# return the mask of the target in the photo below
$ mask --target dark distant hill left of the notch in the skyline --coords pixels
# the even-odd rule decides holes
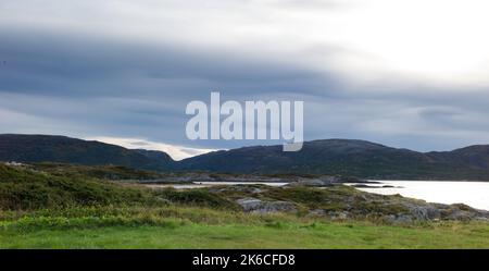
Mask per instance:
[[[162,151],[131,150],[100,141],[51,135],[0,135],[0,161],[114,164],[170,170],[173,159]]]

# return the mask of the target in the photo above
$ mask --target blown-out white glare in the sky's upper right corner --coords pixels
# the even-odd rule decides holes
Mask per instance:
[[[372,0],[338,15],[339,65],[444,86],[489,84],[489,1]]]

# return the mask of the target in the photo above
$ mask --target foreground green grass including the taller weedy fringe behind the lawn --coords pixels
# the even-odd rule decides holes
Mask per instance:
[[[1,224],[0,247],[489,248],[489,224],[477,222],[394,226],[186,207],[158,208],[145,215],[138,214],[140,209],[100,211],[7,218]]]

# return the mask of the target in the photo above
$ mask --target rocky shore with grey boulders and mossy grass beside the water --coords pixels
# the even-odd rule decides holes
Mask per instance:
[[[308,182],[306,185],[310,183]],[[233,185],[209,188],[209,192],[236,202],[244,212],[294,212],[331,220],[373,219],[388,223],[427,221],[489,221],[489,212],[465,205],[442,205],[360,192],[342,184],[305,187]]]

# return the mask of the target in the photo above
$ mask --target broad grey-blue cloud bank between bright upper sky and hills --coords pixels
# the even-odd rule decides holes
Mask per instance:
[[[316,1],[314,1],[316,2]],[[288,1],[287,7],[298,5]],[[277,141],[190,141],[185,106],[223,99],[299,99],[305,139],[362,138],[419,150],[489,143],[488,89],[379,82],[355,85],[289,59],[176,42],[116,39],[65,30],[0,28],[0,132],[116,136],[191,147]],[[280,45],[276,45],[279,47]],[[304,58],[346,50],[311,45]],[[296,56],[297,57],[297,56]],[[456,90],[456,91],[455,91]],[[196,150],[184,149],[188,153]]]

